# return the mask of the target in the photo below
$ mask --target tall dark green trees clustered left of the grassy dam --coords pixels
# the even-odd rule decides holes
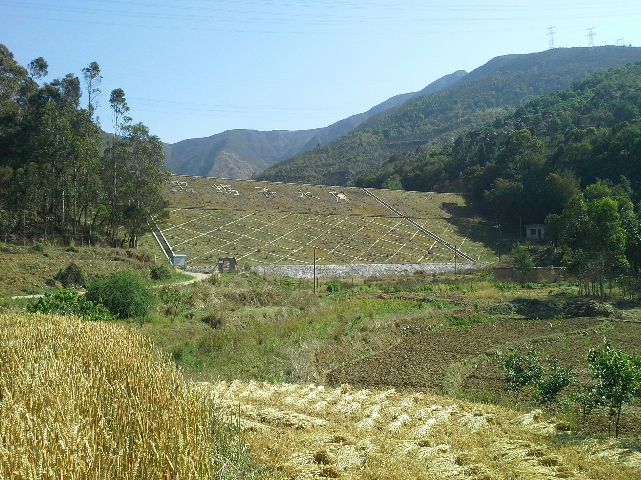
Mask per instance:
[[[96,62],[82,78],[39,83],[48,70],[42,57],[19,65],[0,44],[0,237],[135,248],[147,216],[167,207],[162,143],[132,123],[121,89],[109,96],[113,134],[101,130]]]

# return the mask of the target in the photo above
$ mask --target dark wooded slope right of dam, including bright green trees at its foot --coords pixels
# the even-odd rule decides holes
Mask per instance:
[[[528,102],[440,150],[398,154],[356,184],[459,184],[504,232],[545,221],[557,259],[604,296],[604,279],[641,268],[641,62]],[[638,208],[637,208],[638,210]],[[519,235],[520,236],[520,235]]]

